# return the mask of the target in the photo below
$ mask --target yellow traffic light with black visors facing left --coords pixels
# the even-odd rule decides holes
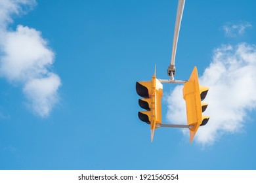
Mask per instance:
[[[150,125],[151,141],[153,141],[154,131],[158,128],[157,124],[161,124],[163,85],[155,74],[152,76],[152,81],[136,82],[136,91],[142,97],[139,99],[140,107],[146,109],[146,111],[138,112],[138,116],[142,122]]]

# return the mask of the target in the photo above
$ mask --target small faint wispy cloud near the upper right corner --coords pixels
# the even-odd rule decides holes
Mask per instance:
[[[236,37],[238,35],[244,35],[245,29],[249,27],[251,27],[251,24],[248,22],[240,22],[240,24],[226,24],[221,29],[227,37]]]

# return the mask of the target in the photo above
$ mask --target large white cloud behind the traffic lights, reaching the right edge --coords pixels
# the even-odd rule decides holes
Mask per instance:
[[[255,71],[254,44],[223,45],[215,49],[211,64],[200,76],[200,85],[210,88],[203,101],[209,104],[203,114],[210,116],[210,120],[198,129],[194,141],[211,145],[223,134],[243,130],[249,120],[248,112],[256,108]],[[182,87],[175,87],[167,97],[167,119],[177,124],[186,124]],[[188,130],[183,133],[188,135]]]

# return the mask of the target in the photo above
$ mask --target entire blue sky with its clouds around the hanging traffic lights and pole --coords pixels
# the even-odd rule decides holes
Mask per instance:
[[[0,3],[0,169],[256,169],[255,1],[187,0],[175,59],[210,88],[188,130],[137,116],[135,83],[169,79],[178,0]],[[162,121],[186,124],[182,86]]]

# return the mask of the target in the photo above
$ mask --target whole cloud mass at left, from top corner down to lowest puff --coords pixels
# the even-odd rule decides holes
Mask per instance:
[[[60,77],[51,72],[54,52],[47,46],[41,32],[18,25],[7,29],[12,14],[22,14],[25,5],[35,1],[4,0],[0,3],[0,76],[11,83],[18,83],[28,99],[28,105],[39,116],[48,116],[58,101]]]

